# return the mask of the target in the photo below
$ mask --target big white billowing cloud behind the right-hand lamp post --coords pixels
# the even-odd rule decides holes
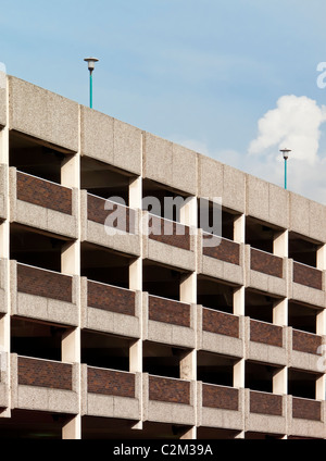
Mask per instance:
[[[326,107],[318,107],[304,96],[288,95],[279,98],[276,109],[258,122],[258,137],[247,152],[212,151],[204,142],[191,139],[180,144],[280,187],[284,186],[284,160],[279,149],[287,147],[292,150],[288,161],[288,189],[326,204],[326,158],[319,151],[325,122]]]

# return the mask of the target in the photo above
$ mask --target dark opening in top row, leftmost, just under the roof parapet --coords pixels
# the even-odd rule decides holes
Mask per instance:
[[[9,165],[20,172],[61,184],[61,169],[71,155],[40,140],[10,132]]]

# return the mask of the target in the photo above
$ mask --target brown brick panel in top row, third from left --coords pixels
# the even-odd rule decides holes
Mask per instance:
[[[190,229],[173,221],[149,216],[149,238],[161,244],[190,251]]]

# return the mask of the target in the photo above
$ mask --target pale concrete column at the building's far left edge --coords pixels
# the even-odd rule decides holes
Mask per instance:
[[[7,303],[7,313],[0,317],[0,353],[1,367],[5,367],[7,382],[8,382],[8,409],[1,413],[2,418],[11,416],[11,367],[10,367],[10,352],[11,352],[11,298],[10,298],[10,185],[9,185],[9,88],[7,75],[1,75],[1,85],[3,84],[5,94],[5,110],[7,121],[5,127],[0,130],[0,163],[4,165],[4,210],[7,212],[5,221],[0,225],[0,258],[7,263],[3,265],[5,274],[4,279],[4,296]],[[2,88],[3,89],[3,88]]]

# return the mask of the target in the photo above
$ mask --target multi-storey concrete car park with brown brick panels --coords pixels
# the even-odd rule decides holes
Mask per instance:
[[[5,80],[0,437],[326,438],[325,205]],[[172,235],[145,197],[188,199]]]

